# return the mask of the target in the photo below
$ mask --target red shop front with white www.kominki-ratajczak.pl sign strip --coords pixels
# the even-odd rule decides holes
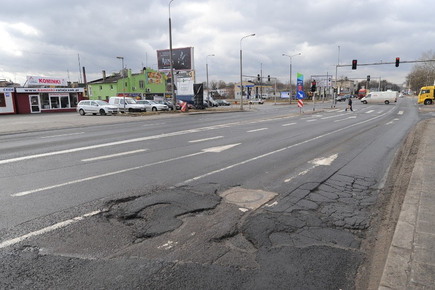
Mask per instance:
[[[76,111],[83,100],[84,88],[17,87],[16,105],[18,114],[54,113]]]

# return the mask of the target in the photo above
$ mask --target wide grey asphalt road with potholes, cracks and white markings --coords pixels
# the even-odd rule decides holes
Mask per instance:
[[[0,288],[361,287],[420,117],[407,98],[344,106],[0,136]]]

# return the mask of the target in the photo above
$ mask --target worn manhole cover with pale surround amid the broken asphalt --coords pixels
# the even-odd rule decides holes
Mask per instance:
[[[227,203],[236,204],[249,209],[257,209],[269,202],[277,194],[263,190],[232,188],[220,194]]]

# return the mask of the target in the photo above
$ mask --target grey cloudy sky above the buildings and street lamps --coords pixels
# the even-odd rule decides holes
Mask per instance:
[[[2,3],[0,78],[23,85],[26,76],[87,81],[122,68],[157,68],[157,50],[194,47],[196,81],[270,75],[282,82],[302,73],[402,83],[412,63],[435,49],[432,0],[40,0]],[[170,8],[169,8],[170,7]],[[255,33],[255,36],[240,39]],[[214,56],[207,55],[214,54]],[[80,64],[79,64],[80,60]],[[261,65],[263,64],[263,65]],[[244,77],[245,80],[245,77]],[[319,82],[318,82],[319,83]]]

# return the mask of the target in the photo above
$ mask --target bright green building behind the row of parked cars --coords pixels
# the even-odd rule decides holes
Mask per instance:
[[[143,68],[139,74],[132,74],[131,69],[112,73],[106,77],[87,83],[89,100],[108,100],[110,97],[123,96],[123,73],[126,97],[141,100],[163,100],[166,90],[165,74],[151,68]]]

